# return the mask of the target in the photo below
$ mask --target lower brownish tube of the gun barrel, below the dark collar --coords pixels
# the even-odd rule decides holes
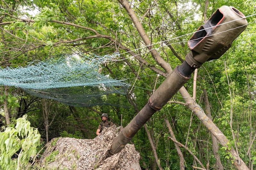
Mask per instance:
[[[132,121],[120,132],[114,140],[109,151],[109,156],[118,153],[138,132],[148,119],[160,110],[172,96],[188,81],[190,77],[183,76],[177,66],[169,77],[157,88],[149,98],[149,102],[140,110]]]

